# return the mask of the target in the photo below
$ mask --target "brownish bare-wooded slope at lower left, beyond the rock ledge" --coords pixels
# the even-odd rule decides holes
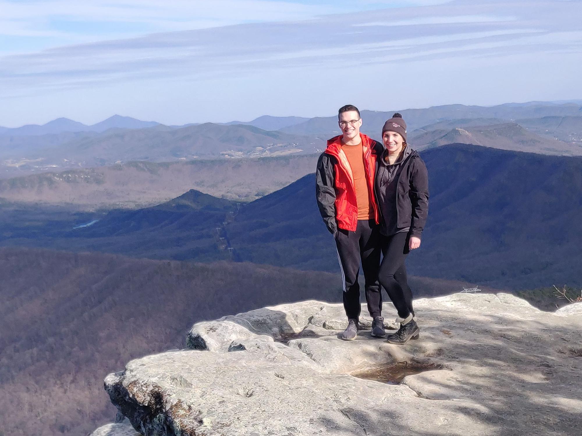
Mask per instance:
[[[0,434],[88,434],[115,417],[105,375],[184,346],[195,321],[340,292],[334,274],[249,263],[0,249]]]

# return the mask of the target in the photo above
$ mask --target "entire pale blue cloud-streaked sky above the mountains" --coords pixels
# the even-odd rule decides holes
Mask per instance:
[[[0,126],[581,99],[582,1],[0,0]]]

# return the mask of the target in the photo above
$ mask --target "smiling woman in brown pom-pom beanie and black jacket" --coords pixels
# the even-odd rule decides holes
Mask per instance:
[[[418,152],[406,143],[406,123],[395,113],[382,128],[384,152],[377,160],[376,198],[382,215],[382,254],[378,278],[398,310],[397,333],[386,338],[391,344],[417,339],[419,328],[406,281],[404,260],[420,246],[428,213],[427,167]],[[396,276],[396,278],[395,278]]]

